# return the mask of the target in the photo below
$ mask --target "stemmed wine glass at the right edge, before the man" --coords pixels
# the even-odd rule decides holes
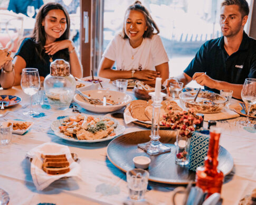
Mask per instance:
[[[256,103],[256,79],[255,78],[246,78],[243,84],[243,89],[241,92],[241,97],[245,104],[248,104],[247,108],[247,117],[245,121],[241,121],[243,126],[253,126],[249,121],[249,113],[251,105]]]

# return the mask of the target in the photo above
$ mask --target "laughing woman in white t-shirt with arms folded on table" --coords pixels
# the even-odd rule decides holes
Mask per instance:
[[[122,32],[112,39],[103,53],[99,76],[111,80],[168,78],[169,59],[158,33],[159,29],[145,6],[139,1],[130,5]],[[117,69],[113,70],[115,62]]]

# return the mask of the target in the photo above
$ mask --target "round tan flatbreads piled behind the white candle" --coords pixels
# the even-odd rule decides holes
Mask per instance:
[[[140,121],[151,121],[153,114],[153,101],[152,100],[134,100],[130,102],[128,109],[133,118]],[[181,107],[178,106],[177,102],[173,100],[165,100],[161,102],[162,106],[160,108],[160,121],[163,118],[163,115],[166,113],[183,111]]]

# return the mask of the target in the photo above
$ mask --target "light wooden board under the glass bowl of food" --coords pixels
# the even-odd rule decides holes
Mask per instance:
[[[239,117],[240,115],[237,114],[235,111],[223,108],[220,112],[213,113],[213,114],[204,114],[204,121],[208,120],[223,120],[223,119],[232,119]]]

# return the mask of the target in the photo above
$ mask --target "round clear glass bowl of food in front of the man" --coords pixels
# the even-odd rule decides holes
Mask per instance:
[[[201,91],[197,100],[194,101],[197,91],[187,91],[179,95],[181,104],[189,109],[193,108],[195,112],[214,113],[220,111],[226,104],[226,98],[209,91]]]

